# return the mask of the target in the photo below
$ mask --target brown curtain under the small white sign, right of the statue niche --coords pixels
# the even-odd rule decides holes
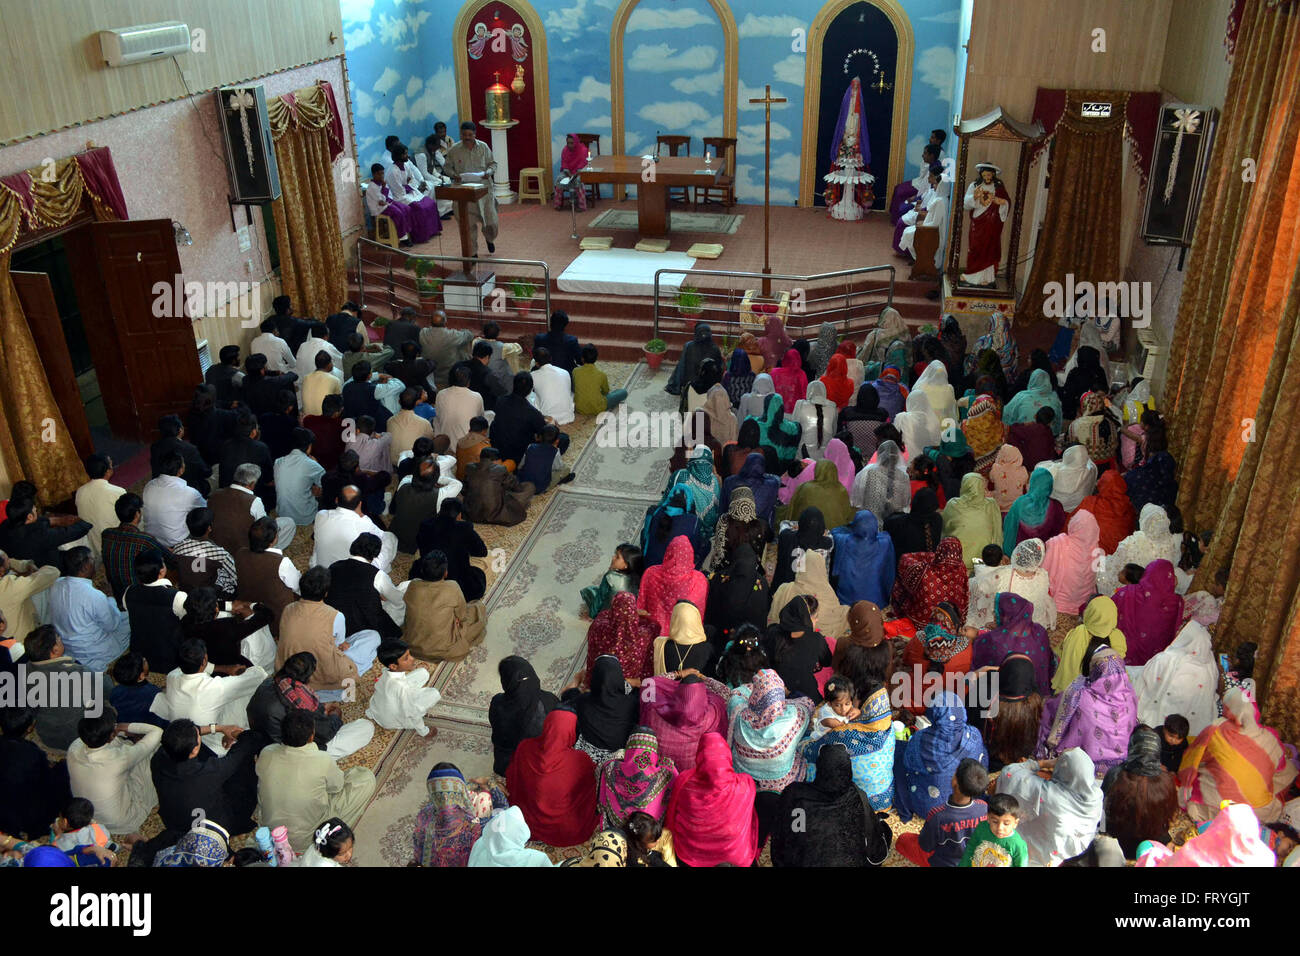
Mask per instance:
[[[1084,120],[1084,103],[1110,103],[1105,120]],[[1127,92],[1067,90],[1065,113],[1052,147],[1052,189],[1034,268],[1017,323],[1057,321],[1043,315],[1043,287],[1075,282],[1118,282],[1119,183],[1124,174]]]

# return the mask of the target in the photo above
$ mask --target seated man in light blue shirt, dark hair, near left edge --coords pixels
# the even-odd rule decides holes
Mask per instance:
[[[49,623],[68,654],[92,671],[107,671],[131,643],[130,618],[95,587],[90,548],[64,551],[64,576],[49,589]],[[12,618],[10,618],[12,620]]]

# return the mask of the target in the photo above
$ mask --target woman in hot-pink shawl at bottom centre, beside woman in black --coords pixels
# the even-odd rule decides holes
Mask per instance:
[[[732,752],[720,734],[705,734],[696,766],[672,787],[664,829],[672,831],[677,860],[686,866],[749,866],[758,856],[754,778],[732,769]]]

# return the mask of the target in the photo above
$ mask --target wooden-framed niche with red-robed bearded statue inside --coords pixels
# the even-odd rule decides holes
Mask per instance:
[[[971,330],[983,334],[988,330],[989,312],[1002,312],[1009,319],[1015,313],[1015,271],[1031,147],[1045,131],[1043,124],[1014,120],[1001,107],[959,121],[953,131],[959,146],[953,172],[944,312],[956,315],[963,328],[970,324]],[[1006,230],[1009,237],[1004,238]]]

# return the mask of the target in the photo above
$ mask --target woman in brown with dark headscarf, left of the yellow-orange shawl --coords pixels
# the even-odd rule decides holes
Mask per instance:
[[[1106,773],[1101,792],[1105,831],[1119,840],[1126,857],[1132,860],[1144,840],[1170,842],[1169,825],[1178,813],[1178,778],[1160,762],[1157,731],[1141,724],[1134,730],[1128,756]]]

